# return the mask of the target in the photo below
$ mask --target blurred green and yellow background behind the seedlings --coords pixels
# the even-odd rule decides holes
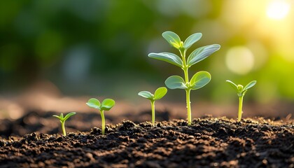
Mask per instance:
[[[293,102],[294,1],[269,0],[2,0],[0,2],[0,94],[20,94],[48,80],[70,96],[139,99],[167,77],[183,72],[148,58],[175,52],[162,38],[174,31],[184,41],[202,32],[202,45],[221,50],[195,64],[190,76],[209,71],[211,83],[192,100],[237,102],[230,79],[246,85],[252,102]],[[183,90],[167,99],[185,102]]]

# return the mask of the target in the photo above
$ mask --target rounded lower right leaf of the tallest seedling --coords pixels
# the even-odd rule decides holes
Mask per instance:
[[[207,71],[200,71],[195,73],[195,75],[190,80],[190,87],[192,90],[200,89],[201,87],[204,87],[204,85],[207,85],[209,81],[211,80],[211,75]]]

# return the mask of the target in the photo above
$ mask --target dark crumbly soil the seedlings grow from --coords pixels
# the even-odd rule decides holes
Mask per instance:
[[[9,128],[7,120],[2,122],[1,127]],[[32,121],[18,122],[24,128]],[[34,127],[45,125],[37,123]],[[5,131],[2,137],[15,132]],[[0,140],[0,167],[294,167],[294,126],[293,120],[238,123],[207,116],[194,119],[191,126],[186,120],[154,127],[127,120],[106,127],[104,136],[97,127],[66,137],[34,132]]]

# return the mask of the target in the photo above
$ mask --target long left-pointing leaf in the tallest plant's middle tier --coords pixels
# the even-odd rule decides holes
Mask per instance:
[[[154,59],[160,59],[165,62],[169,62],[170,64],[174,64],[179,67],[183,67],[182,59],[173,53],[169,52],[161,52],[161,53],[150,53],[148,57],[152,57]]]

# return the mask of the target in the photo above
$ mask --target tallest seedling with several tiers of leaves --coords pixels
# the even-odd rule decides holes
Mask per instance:
[[[189,79],[188,69],[197,62],[209,57],[212,53],[216,52],[221,48],[221,45],[212,44],[197,48],[190,53],[188,59],[186,59],[186,52],[191,45],[199,41],[202,37],[201,33],[192,34],[189,36],[185,42],[181,41],[181,38],[172,31],[165,31],[162,34],[163,38],[172,45],[172,47],[179,50],[181,57],[170,52],[160,52],[160,53],[150,53],[148,57],[155,59],[160,59],[162,61],[174,64],[183,69],[184,78],[181,76],[170,76],[165,80],[165,85],[169,89],[183,89],[186,90],[186,103],[187,103],[187,113],[188,113],[188,125],[191,125],[191,106],[190,106],[190,91],[197,90],[204,85],[207,85],[211,80],[211,75],[207,71],[199,71]]]

